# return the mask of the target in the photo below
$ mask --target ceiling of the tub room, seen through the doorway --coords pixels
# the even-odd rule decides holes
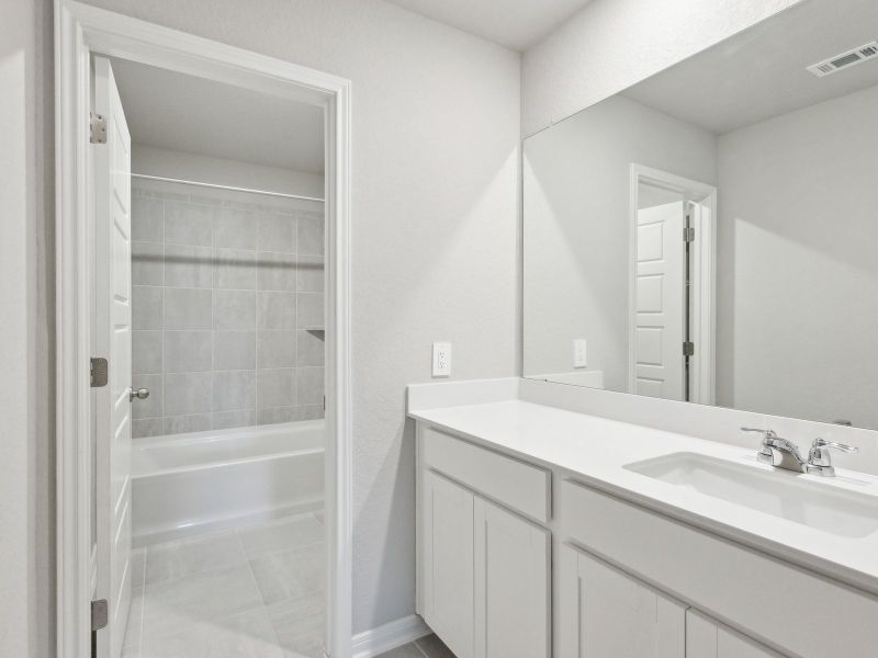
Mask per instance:
[[[320,107],[125,59],[112,64],[134,144],[323,173]]]

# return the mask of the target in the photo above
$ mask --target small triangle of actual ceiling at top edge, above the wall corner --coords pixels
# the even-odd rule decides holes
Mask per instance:
[[[589,0],[390,0],[515,50],[525,50]]]

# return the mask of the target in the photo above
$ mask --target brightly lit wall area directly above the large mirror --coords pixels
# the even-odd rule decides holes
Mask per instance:
[[[525,53],[532,135],[801,0],[593,0]]]

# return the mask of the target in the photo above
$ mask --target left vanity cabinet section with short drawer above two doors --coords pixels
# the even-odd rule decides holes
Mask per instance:
[[[458,658],[549,658],[551,535],[517,508],[547,510],[550,474],[419,434],[418,612]],[[470,458],[449,458],[461,455]],[[536,499],[527,495],[534,484]]]

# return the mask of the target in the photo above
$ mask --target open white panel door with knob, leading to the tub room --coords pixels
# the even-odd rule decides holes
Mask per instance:
[[[131,606],[131,136],[110,63],[94,58],[94,112],[106,120],[94,163],[94,343],[110,362],[95,388],[98,598],[109,624],[98,655],[119,658]]]

